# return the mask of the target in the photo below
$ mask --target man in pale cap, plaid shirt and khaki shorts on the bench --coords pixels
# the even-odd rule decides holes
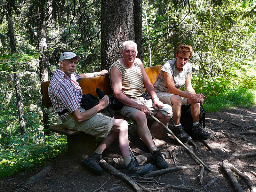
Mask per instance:
[[[60,68],[56,69],[49,84],[49,97],[53,107],[62,119],[63,125],[69,130],[84,131],[86,134],[104,138],[99,147],[89,157],[83,159],[83,163],[93,173],[100,175],[102,168],[99,165],[102,152],[116,138],[119,139],[119,148],[128,175],[142,176],[149,172],[152,164],[136,164],[129,152],[128,124],[122,119],[113,119],[102,115],[99,111],[108,106],[108,96],[105,95],[95,107],[85,110],[80,107],[82,100],[82,89],[77,83],[81,78],[75,74],[76,62],[81,60],[73,52],[64,52],[60,56]],[[98,74],[105,75],[105,71]],[[98,75],[97,74],[97,75]],[[93,73],[83,77],[95,76]]]

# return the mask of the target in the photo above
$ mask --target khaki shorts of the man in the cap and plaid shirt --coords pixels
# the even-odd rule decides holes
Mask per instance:
[[[84,108],[79,108],[80,112],[84,112]],[[111,131],[114,119],[101,113],[97,113],[90,119],[82,122],[77,122],[72,113],[62,119],[63,125],[68,130],[77,130],[85,132],[88,135],[95,137],[106,138]]]

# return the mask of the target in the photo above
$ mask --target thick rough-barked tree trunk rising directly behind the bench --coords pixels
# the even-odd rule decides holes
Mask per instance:
[[[135,41],[133,0],[101,0],[101,68],[122,57],[124,41]]]

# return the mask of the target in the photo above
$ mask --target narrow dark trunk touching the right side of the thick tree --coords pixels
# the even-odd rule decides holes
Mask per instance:
[[[137,43],[138,55],[137,57],[143,62],[143,42],[142,42],[142,1],[133,1],[133,15],[134,15],[134,33],[135,43]]]

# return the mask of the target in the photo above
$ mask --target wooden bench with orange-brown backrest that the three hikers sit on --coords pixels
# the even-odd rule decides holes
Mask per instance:
[[[145,68],[149,80],[153,84],[160,72],[162,66],[153,66]],[[48,86],[50,81],[42,82],[42,94],[44,100],[44,106],[46,108],[52,107],[52,102],[48,95]],[[95,97],[97,96],[96,88],[100,87],[104,94],[111,95],[113,91],[110,87],[109,76],[96,76],[90,78],[81,78],[78,81],[82,88],[83,94],[91,93]],[[126,119],[124,116],[115,113],[116,118]],[[73,156],[75,159],[81,160],[92,154],[96,149],[96,138],[94,136],[85,134],[80,131],[70,131],[66,129],[63,124],[50,126],[50,131],[60,133],[67,136],[68,141],[68,154]],[[161,136],[160,136],[161,137]]]

